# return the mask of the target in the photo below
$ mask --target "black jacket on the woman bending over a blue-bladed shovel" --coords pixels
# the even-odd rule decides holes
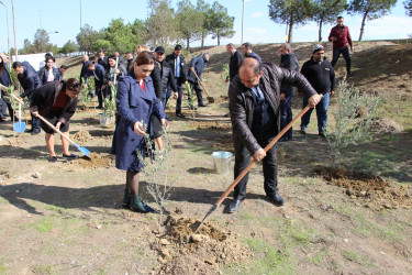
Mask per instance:
[[[58,95],[62,91],[63,88],[63,81],[53,81],[47,82],[46,85],[40,87],[38,89],[35,89],[33,91],[33,98],[32,102],[30,103],[30,108],[32,110],[37,110],[41,116],[46,116],[53,109],[53,106],[56,102],[56,99],[58,98]],[[60,117],[58,119],[59,122],[66,124],[69,122],[73,114],[76,112],[77,108],[77,97],[71,98],[67,101],[65,107],[63,107]]]

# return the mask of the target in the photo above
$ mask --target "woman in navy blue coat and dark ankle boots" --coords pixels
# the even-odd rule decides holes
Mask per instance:
[[[156,98],[153,80],[149,77],[154,67],[152,54],[142,52],[133,63],[127,76],[119,78],[116,106],[119,121],[113,136],[112,154],[115,167],[126,170],[126,188],[123,206],[137,212],[154,211],[138,196],[138,172],[142,168],[137,154],[146,152],[144,125],[149,133],[149,119],[155,114],[162,124],[168,127],[162,102]],[[138,152],[138,153],[137,153]]]

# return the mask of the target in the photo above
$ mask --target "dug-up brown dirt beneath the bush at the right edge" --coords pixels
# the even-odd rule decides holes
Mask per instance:
[[[379,210],[382,208],[412,208],[412,190],[408,186],[398,186],[381,177],[350,173],[331,167],[315,167],[314,172],[327,183],[344,187],[350,198],[365,199],[367,206]]]

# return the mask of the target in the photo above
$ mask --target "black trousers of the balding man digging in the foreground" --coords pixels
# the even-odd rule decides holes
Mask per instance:
[[[275,134],[255,136],[259,145],[264,148],[267,144],[274,140]],[[253,156],[252,156],[253,157]],[[234,178],[236,178],[250,163],[250,154],[247,148],[241,143],[235,145],[235,168]],[[264,168],[264,188],[266,195],[272,195],[278,187],[278,165],[276,157],[276,144],[266,152],[266,157],[263,160]],[[234,198],[243,200],[246,196],[246,185],[248,182],[249,173],[247,173],[243,179],[236,185],[234,189]]]

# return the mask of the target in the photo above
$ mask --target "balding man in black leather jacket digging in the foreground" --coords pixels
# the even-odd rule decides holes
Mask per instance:
[[[276,206],[282,206],[283,199],[278,193],[276,145],[265,152],[264,147],[280,131],[280,87],[282,84],[297,86],[314,107],[321,96],[298,72],[290,72],[274,64],[260,64],[253,57],[246,57],[229,87],[229,109],[231,112],[233,141],[235,148],[234,178],[248,166],[250,155],[263,161],[264,186],[268,199]],[[234,189],[234,200],[229,212],[238,210],[246,196],[248,173]]]

